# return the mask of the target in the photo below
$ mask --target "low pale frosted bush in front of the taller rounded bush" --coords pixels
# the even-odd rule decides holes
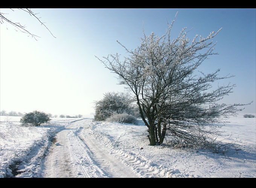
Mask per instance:
[[[105,121],[135,124],[136,118],[133,115],[123,112],[122,114],[114,113],[110,117],[108,117]]]

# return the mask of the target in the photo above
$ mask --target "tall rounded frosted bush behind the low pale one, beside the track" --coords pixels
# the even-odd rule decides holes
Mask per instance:
[[[95,102],[96,121],[104,121],[113,114],[134,114],[134,108],[131,105],[130,98],[124,93],[107,92],[102,100]]]

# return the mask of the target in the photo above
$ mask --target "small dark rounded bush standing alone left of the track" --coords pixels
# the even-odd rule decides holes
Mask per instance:
[[[50,121],[49,115],[40,111],[33,111],[28,114],[26,113],[20,119],[21,124],[31,124],[34,126],[40,126],[41,124],[46,123],[47,121]]]

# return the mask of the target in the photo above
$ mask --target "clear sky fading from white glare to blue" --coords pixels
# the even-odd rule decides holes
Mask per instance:
[[[244,112],[256,110],[256,9],[31,9],[41,17],[48,30],[25,12],[0,9],[6,17],[26,25],[33,39],[0,24],[0,110],[52,114],[90,114],[93,102],[108,91],[124,91],[116,75],[104,68],[94,56],[111,53],[126,56],[117,40],[135,49],[143,36],[165,33],[178,11],[172,28],[176,38],[184,27],[192,39],[207,36],[223,28],[213,39],[215,52],[201,65],[211,73],[235,77],[223,83],[235,83],[225,103],[248,103]],[[220,82],[219,84],[222,84]]]

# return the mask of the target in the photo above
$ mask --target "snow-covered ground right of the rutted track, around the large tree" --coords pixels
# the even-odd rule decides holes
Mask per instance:
[[[241,150],[207,150],[149,146],[146,126],[91,122],[91,134],[141,177],[256,177],[256,118],[234,117],[222,127],[227,143]],[[224,139],[227,137],[219,138]]]

